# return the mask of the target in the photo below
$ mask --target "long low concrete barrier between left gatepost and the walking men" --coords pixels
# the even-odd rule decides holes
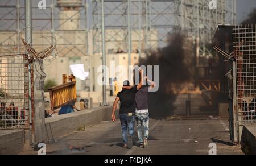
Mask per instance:
[[[89,110],[64,114],[57,117],[46,118],[47,141],[55,140],[69,134],[79,127],[86,127],[91,124],[110,119],[111,107],[97,107]]]

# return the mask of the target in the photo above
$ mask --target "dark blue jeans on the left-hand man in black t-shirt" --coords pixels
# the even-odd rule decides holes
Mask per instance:
[[[123,143],[127,144],[128,142],[128,135],[133,137],[134,135],[134,121],[135,121],[135,115],[129,116],[128,114],[120,114],[119,115],[121,126],[122,126],[122,138]],[[128,131],[128,133],[127,133]]]

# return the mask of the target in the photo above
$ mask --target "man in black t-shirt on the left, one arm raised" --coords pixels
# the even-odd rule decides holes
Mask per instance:
[[[143,70],[140,70],[140,76],[143,76]],[[141,89],[143,85],[143,79],[140,79],[139,85],[134,86],[131,89],[122,89],[121,92],[117,94],[115,102],[112,109],[112,121],[115,122],[115,110],[117,109],[118,101],[121,102],[119,118],[122,126],[122,138],[123,138],[123,148],[131,148],[133,146],[132,137],[134,135],[134,121],[135,121],[135,93]],[[130,86],[129,81],[124,81],[123,86]],[[127,134],[128,130],[128,134]]]

